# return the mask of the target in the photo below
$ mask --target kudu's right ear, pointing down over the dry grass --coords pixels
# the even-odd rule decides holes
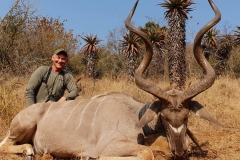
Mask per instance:
[[[191,110],[201,118],[208,120],[218,126],[222,126],[213,116],[197,101],[191,102]]]

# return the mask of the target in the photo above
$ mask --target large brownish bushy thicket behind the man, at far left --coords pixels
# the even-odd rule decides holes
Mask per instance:
[[[32,72],[40,65],[49,65],[58,48],[70,55],[78,49],[78,35],[66,31],[59,19],[35,17],[31,5],[17,0],[0,24],[1,71],[14,75]]]

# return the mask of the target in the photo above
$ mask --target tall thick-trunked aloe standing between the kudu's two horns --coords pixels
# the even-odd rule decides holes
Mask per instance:
[[[191,0],[165,0],[160,6],[167,9],[165,18],[168,20],[168,68],[170,84],[183,89],[186,82],[186,20],[189,8],[194,4]]]

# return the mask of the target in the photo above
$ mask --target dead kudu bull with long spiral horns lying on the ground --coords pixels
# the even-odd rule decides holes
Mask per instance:
[[[153,160],[151,149],[142,145],[144,137],[165,129],[174,159],[186,159],[190,111],[221,125],[203,106],[192,100],[215,81],[215,72],[200,47],[203,35],[220,20],[215,4],[209,0],[215,18],[198,32],[193,47],[205,76],[184,92],[175,89],[164,91],[143,78],[153,49],[147,35],[130,23],[137,4],[138,0],[125,21],[126,27],[140,36],[146,46],[146,54],[135,72],[135,82],[158,100],[144,105],[130,96],[109,93],[91,99],[34,104],[14,117],[8,135],[0,143],[2,152],[25,152],[29,159],[34,153],[49,153],[60,158],[102,157],[113,160],[113,157],[128,157]]]

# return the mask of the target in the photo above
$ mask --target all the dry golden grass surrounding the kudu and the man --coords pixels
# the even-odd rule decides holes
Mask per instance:
[[[10,120],[19,110],[25,108],[24,92],[27,80],[14,78],[0,84],[0,139],[8,129]],[[92,80],[83,78],[80,82],[85,98],[106,93],[121,92],[142,102],[153,101],[154,97],[138,89],[134,83],[125,80]],[[167,86],[159,82],[158,85]],[[240,80],[221,78],[195,100],[200,102],[224,127],[219,127],[190,114],[189,128],[198,138],[207,154],[200,154],[192,146],[190,160],[237,160],[240,159]],[[195,150],[196,149],[196,150]],[[19,156],[0,155],[0,159],[22,159]]]

